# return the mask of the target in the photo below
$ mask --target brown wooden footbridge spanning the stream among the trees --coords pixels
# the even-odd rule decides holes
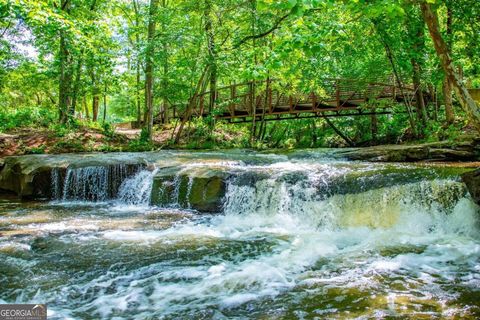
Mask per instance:
[[[428,99],[429,95],[424,95]],[[279,81],[266,80],[231,84],[198,94],[192,98],[188,117],[212,115],[217,120],[236,123],[253,117],[271,121],[389,114],[395,103],[415,105],[413,86],[327,79],[315,91],[299,92]],[[184,118],[185,113],[178,109],[172,108],[169,116]]]

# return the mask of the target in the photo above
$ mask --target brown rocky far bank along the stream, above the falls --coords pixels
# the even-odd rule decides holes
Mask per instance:
[[[115,131],[83,128],[75,132],[55,132],[49,129],[19,129],[0,134],[0,158],[26,154],[60,154],[86,152],[136,152],[161,149],[198,150],[195,136],[184,137],[181,144],[170,143],[172,129],[159,132],[152,143],[139,141],[139,131],[117,128]],[[228,131],[216,132],[221,146],[241,146]],[[193,142],[188,143],[188,139]],[[212,144],[212,146],[216,146]],[[212,148],[221,149],[221,148]],[[209,149],[209,150],[212,150]],[[295,149],[293,149],[295,150]],[[371,162],[475,162],[480,161],[480,136],[469,134],[438,142],[409,142],[359,148],[332,148],[347,160]],[[291,152],[292,149],[264,149],[270,152]]]

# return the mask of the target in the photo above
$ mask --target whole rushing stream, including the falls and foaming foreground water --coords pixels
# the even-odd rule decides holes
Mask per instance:
[[[480,317],[480,215],[461,168],[160,158],[54,170],[51,201],[3,198],[0,302],[47,303],[49,319]],[[151,205],[164,161],[178,177],[228,173],[220,212]]]

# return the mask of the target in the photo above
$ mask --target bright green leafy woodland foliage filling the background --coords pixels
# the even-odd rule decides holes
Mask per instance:
[[[391,83],[395,68],[408,85],[413,60],[419,64],[424,90],[440,92],[442,88],[444,75],[414,1],[159,1],[153,17],[157,30],[151,39],[147,39],[149,1],[69,3],[0,4],[0,131],[48,127],[55,137],[68,140],[84,128],[98,129],[106,137],[100,149],[115,150],[112,145],[118,135],[113,123],[142,118],[145,112],[145,63],[152,47],[156,48],[152,56],[155,116],[163,106],[171,112],[174,105],[176,114],[182,114],[197,84],[199,90],[209,91],[213,85],[218,89],[270,78],[276,80],[274,89],[285,94],[315,91],[321,96],[332,89],[325,85],[326,78],[356,79],[365,85]],[[454,23],[443,36],[456,66],[463,66],[465,82],[478,86],[480,36],[475,26],[480,2],[435,3],[442,32],[447,10],[454,21],[463,22]],[[207,66],[209,72],[199,81]],[[66,93],[71,107],[67,110],[70,120],[64,124],[58,120],[60,91]],[[240,97],[242,92],[237,94],[236,102],[246,99]],[[187,124],[183,147],[250,147],[251,141],[258,149],[345,146],[323,119],[267,123],[252,140],[249,124],[215,120],[230,107],[229,101],[220,98],[209,116]],[[104,103],[107,122],[101,125]],[[94,104],[99,109],[97,122],[86,120],[93,116]],[[208,108],[208,101],[204,107]],[[366,110],[371,107],[383,106],[379,101],[365,106]],[[378,116],[376,133],[369,116],[338,118],[332,123],[359,145],[413,139],[405,106],[394,106],[394,110],[392,115]],[[442,117],[426,127],[420,121],[414,126],[426,139],[450,139],[463,130],[464,119],[466,115],[457,112],[453,127],[445,128]],[[132,150],[154,149],[145,130],[130,144]]]

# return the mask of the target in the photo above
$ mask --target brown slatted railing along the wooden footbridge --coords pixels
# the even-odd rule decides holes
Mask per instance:
[[[359,108],[374,99],[414,99],[411,86],[404,86],[400,90],[393,83],[350,79],[322,79],[319,82],[313,90],[300,90],[276,79],[231,83],[218,87],[215,91],[199,94],[193,101],[191,116],[212,115],[228,119],[253,115],[339,111]],[[182,116],[178,108],[173,108],[173,113],[173,117]]]

